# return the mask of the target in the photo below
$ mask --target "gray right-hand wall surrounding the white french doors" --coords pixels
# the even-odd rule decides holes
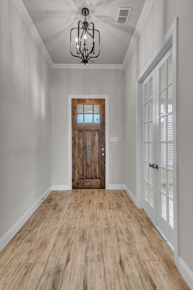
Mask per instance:
[[[180,257],[193,271],[193,1],[154,0],[138,41],[125,69],[125,183],[136,195],[135,164],[135,79],[179,17],[179,250]],[[131,139],[131,136],[133,137]],[[129,148],[129,150],[127,150]]]

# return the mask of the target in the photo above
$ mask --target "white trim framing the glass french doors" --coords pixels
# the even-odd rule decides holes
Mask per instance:
[[[175,162],[173,163],[173,189],[174,189],[174,262],[178,266],[179,257],[179,235],[178,235],[178,18],[174,20],[169,30],[164,35],[162,41],[138,75],[136,88],[136,164],[142,164],[142,81],[147,77],[155,65],[167,52],[172,45],[173,56],[173,155]],[[142,167],[136,167],[136,205],[142,208]]]

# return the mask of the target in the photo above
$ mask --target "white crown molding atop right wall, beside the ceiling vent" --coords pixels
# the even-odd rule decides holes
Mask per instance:
[[[137,23],[137,25],[135,27],[133,36],[131,38],[131,42],[129,43],[129,47],[127,49],[127,52],[125,54],[125,58],[124,58],[123,63],[122,63],[124,68],[126,67],[127,62],[128,62],[128,60],[129,60],[129,58],[131,56],[132,50],[133,50],[133,48],[135,46],[135,43],[136,43],[136,41],[138,39],[138,36],[139,36],[139,33],[141,32],[141,29],[142,29],[142,27],[144,25],[144,22],[145,22],[146,18],[147,18],[148,12],[150,11],[152,3],[153,3],[153,0],[146,0],[145,1],[144,7],[143,7],[143,9],[141,11],[138,23]]]

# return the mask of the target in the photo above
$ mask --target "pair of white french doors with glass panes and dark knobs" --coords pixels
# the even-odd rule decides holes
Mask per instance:
[[[142,83],[143,208],[174,245],[172,48]]]

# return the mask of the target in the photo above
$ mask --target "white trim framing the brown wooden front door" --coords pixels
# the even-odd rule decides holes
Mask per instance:
[[[68,189],[72,189],[72,99],[105,99],[105,188],[109,189],[109,95],[68,95]]]

